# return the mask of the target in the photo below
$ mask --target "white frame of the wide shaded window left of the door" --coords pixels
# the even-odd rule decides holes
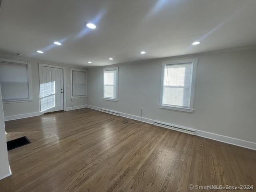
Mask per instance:
[[[14,59],[0,58],[0,62],[10,63],[10,64],[21,64],[27,66],[28,74],[28,98],[27,99],[14,99],[14,100],[2,100],[3,103],[19,103],[19,102],[31,102],[33,101],[33,92],[32,92],[32,72],[31,72],[31,62],[29,61],[20,61]]]

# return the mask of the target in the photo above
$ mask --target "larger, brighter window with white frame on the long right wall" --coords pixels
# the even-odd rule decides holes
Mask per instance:
[[[198,59],[162,63],[160,108],[194,112]]]

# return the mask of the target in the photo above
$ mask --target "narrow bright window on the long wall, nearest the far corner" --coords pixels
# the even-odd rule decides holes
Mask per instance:
[[[118,67],[103,69],[103,99],[118,101]]]

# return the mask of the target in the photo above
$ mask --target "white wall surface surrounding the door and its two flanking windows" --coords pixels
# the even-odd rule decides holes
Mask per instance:
[[[18,103],[6,103],[4,102],[4,116],[14,116],[20,114],[34,113],[40,111],[40,102],[39,102],[39,72],[38,72],[38,63],[43,64],[52,64],[56,66],[64,66],[66,68],[66,106],[71,107],[71,98],[70,98],[70,67],[71,68],[80,68],[72,65],[65,65],[54,62],[47,62],[41,60],[35,60],[31,58],[22,58],[18,56],[10,56],[6,54],[0,54],[0,58],[8,58],[22,61],[30,61],[31,70],[32,70],[32,91],[33,91],[33,100],[31,102],[18,102]],[[87,103],[87,98],[74,98],[73,106],[81,106]]]

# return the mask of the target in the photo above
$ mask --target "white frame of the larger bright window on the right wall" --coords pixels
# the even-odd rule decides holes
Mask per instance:
[[[164,69],[166,65],[177,65],[177,64],[192,64],[192,80],[191,80],[191,90],[190,90],[190,103],[189,107],[175,106],[175,105],[166,105],[163,104],[163,91],[164,91]],[[162,62],[162,70],[161,70],[161,88],[160,88],[160,104],[159,108],[176,110],[176,111],[184,111],[184,112],[194,112],[194,95],[195,95],[195,87],[196,87],[196,70],[197,70],[198,58],[194,59],[186,59],[186,60],[176,60],[176,61],[165,61]]]

